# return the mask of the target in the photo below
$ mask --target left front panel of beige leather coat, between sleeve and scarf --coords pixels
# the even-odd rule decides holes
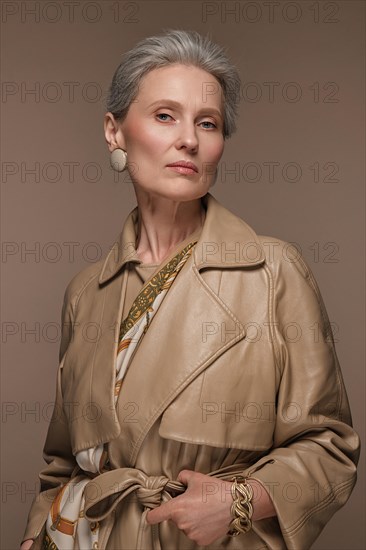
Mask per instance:
[[[73,453],[118,437],[115,357],[126,272],[99,288],[89,284],[77,309],[62,366],[62,394]]]

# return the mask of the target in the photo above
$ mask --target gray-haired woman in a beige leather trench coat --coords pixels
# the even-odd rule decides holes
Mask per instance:
[[[352,491],[359,440],[317,284],[209,193],[239,85],[222,48],[177,30],[114,75],[105,136],[137,207],[67,287],[22,550],[304,550]]]

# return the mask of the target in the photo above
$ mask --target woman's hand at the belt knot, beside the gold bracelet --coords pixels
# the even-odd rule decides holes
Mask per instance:
[[[154,525],[171,520],[200,546],[226,535],[232,520],[231,482],[191,470],[180,472],[178,481],[187,485],[186,491],[150,510],[147,523]]]

